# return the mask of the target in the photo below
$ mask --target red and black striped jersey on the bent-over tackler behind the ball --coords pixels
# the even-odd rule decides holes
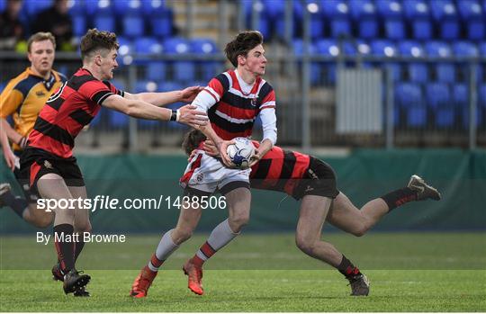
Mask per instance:
[[[259,147],[257,141],[253,141],[253,145]],[[309,155],[275,146],[251,167],[251,187],[293,195],[295,187],[304,178],[310,163]]]

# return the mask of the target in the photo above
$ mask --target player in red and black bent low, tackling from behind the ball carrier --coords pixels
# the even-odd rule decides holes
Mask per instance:
[[[258,147],[257,141],[253,143]],[[191,130],[184,136],[183,148],[190,159],[202,150],[211,156],[219,154],[211,140],[206,140],[199,130]],[[252,166],[250,184],[252,188],[279,191],[302,199],[295,232],[297,246],[305,254],[337,268],[349,281],[351,295],[355,296],[368,295],[368,279],[336,247],[320,239],[324,221],[359,237],[386,213],[405,202],[440,199],[436,189],[412,175],[406,187],[371,200],[358,210],[344,193],[338,191],[331,166],[316,157],[276,146]],[[203,246],[202,250],[205,255],[214,253],[211,246]],[[148,265],[158,267],[162,262],[156,252]],[[142,270],[139,278],[146,281],[134,284],[135,288],[143,288],[138,297],[147,295],[154,277],[149,269]]]

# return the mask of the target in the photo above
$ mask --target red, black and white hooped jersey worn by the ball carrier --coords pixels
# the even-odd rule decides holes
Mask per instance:
[[[208,110],[208,117],[221,139],[249,137],[258,113],[268,108],[275,110],[274,89],[261,77],[246,94],[235,71],[229,70],[211,79],[204,91],[216,101]]]

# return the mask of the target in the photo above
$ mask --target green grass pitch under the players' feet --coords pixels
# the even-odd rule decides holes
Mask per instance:
[[[130,285],[158,236],[124,244],[88,244],[78,262],[93,280],[89,299],[65,296],[50,279],[52,243],[0,237],[0,311],[486,311],[484,233],[324,233],[372,283],[354,298],[335,270],[304,256],[293,234],[243,235],[207,264],[206,294],[186,288],[180,271],[205,235],[166,262],[148,298],[131,300]]]

